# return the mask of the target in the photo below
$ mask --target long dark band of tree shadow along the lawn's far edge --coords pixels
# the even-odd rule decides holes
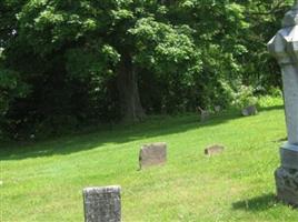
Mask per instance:
[[[220,117],[216,115],[206,122],[200,122],[198,114],[149,118],[148,121],[139,124],[120,124],[106,131],[67,135],[42,142],[1,145],[3,148],[0,148],[0,160],[22,160],[54,154],[70,154],[99,148],[107,143],[121,144],[140,139],[181,133],[198,128],[209,128],[238,118],[240,118],[240,114],[235,111],[224,112]]]

